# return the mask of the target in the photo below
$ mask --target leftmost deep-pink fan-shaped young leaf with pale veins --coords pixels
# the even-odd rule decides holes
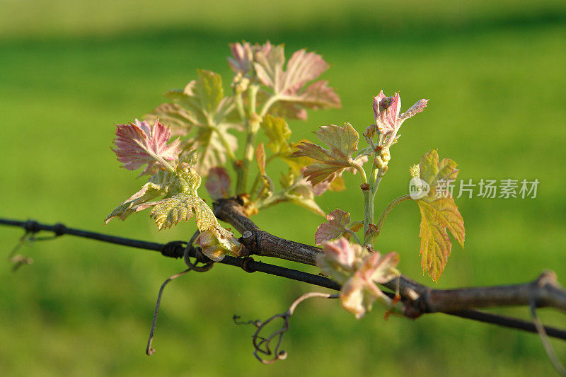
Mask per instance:
[[[136,170],[147,164],[140,175],[155,173],[156,167],[167,168],[166,161],[176,161],[181,151],[179,139],[171,139],[171,128],[156,120],[153,127],[147,122],[117,124],[114,152],[122,168]],[[170,166],[170,165],[169,165]]]

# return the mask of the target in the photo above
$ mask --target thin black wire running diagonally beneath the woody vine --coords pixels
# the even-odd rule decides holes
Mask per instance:
[[[8,226],[19,226],[24,228],[26,231],[31,233],[37,233],[38,231],[52,231],[56,236],[62,236],[63,234],[70,234],[71,236],[81,237],[81,238],[91,238],[93,240],[100,240],[106,243],[115,243],[117,245],[130,246],[133,248],[154,250],[162,253],[166,257],[183,257],[185,250],[185,243],[183,241],[172,241],[170,243],[154,243],[147,242],[143,240],[134,240],[132,238],[124,238],[117,236],[110,236],[108,234],[96,233],[90,231],[83,231],[81,229],[67,228],[63,224],[47,225],[40,224],[37,221],[17,221],[11,219],[0,219],[0,225]],[[191,252],[191,257],[199,257],[196,250],[193,249]],[[204,261],[206,262],[206,261]],[[222,265],[231,265],[235,267],[240,267],[246,272],[263,272],[264,274],[271,274],[279,277],[285,277],[287,279],[296,280],[297,282],[304,282],[308,284],[313,284],[316,286],[322,286],[328,289],[334,289],[340,291],[340,284],[328,279],[328,277],[323,277],[320,275],[309,274],[308,272],[298,271],[296,269],[285,268],[277,265],[271,265],[269,263],[259,262],[253,260],[251,257],[246,258],[236,258],[227,255],[220,262]],[[470,320],[477,320],[483,323],[491,323],[492,325],[499,325],[502,327],[514,328],[517,330],[524,330],[527,332],[537,332],[534,323],[521,320],[519,318],[512,318],[506,315],[498,315],[492,313],[486,313],[483,311],[458,311],[445,313],[448,315],[454,315],[456,317],[466,318]],[[558,339],[566,340],[566,330],[558,329],[556,327],[545,326],[545,330],[549,337],[555,337]]]

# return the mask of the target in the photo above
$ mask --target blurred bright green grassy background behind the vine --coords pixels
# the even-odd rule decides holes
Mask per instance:
[[[439,284],[422,276],[417,207],[391,213],[378,249],[439,288],[507,284],[553,269],[566,282],[566,3],[517,1],[23,1],[0,2],[0,216],[166,242],[194,224],[158,232],[146,214],[102,222],[143,184],[118,168],[114,123],[129,122],[181,88],[195,69],[218,71],[228,88],[228,43],[284,42],[330,62],[324,74],[338,110],[294,122],[294,140],[320,124],[373,120],[371,96],[400,91],[403,109],[429,107],[403,125],[380,187],[380,213],[404,194],[408,166],[430,149],[456,160],[460,178],[541,182],[536,199],[460,198],[466,248],[454,245]],[[275,173],[274,173],[275,175]],[[325,211],[362,216],[352,190],[320,199]],[[202,190],[204,191],[204,190]],[[203,192],[204,195],[204,192]],[[313,243],[320,216],[280,205],[254,218],[279,236]],[[0,227],[8,255],[23,233]],[[337,301],[307,301],[284,339],[286,361],[252,356],[252,327],[311,286],[218,265],[187,274],[163,296],[154,347],[144,354],[160,284],[183,265],[156,253],[65,236],[25,246],[35,260],[16,274],[0,263],[3,376],[324,375],[440,376],[551,373],[536,335],[448,315],[355,320]],[[273,262],[273,261],[270,261]],[[275,261],[277,262],[277,261]],[[292,266],[291,263],[282,263]],[[304,267],[308,271],[316,271]],[[528,318],[526,309],[499,310]],[[565,317],[541,311],[565,326]],[[566,344],[553,342],[566,361]]]

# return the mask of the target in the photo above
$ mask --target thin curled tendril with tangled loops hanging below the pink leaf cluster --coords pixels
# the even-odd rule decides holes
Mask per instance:
[[[291,306],[289,306],[289,309],[286,312],[275,314],[271,318],[265,320],[264,322],[262,322],[261,320],[243,321],[243,320],[239,320],[240,319],[239,315],[233,316],[232,319],[234,320],[234,323],[236,323],[236,325],[254,325],[255,327],[257,327],[257,330],[255,330],[255,333],[252,336],[252,343],[254,348],[253,356],[255,356],[256,359],[261,361],[263,364],[272,364],[277,360],[284,360],[287,358],[287,352],[284,351],[283,349],[280,349],[280,347],[284,333],[287,332],[287,330],[289,330],[289,318],[291,318],[291,315],[293,315],[299,303],[305,301],[307,298],[313,298],[313,297],[337,298],[338,295],[324,294],[322,292],[309,292],[307,294],[300,296],[295,301],[293,301],[293,303],[291,303]],[[267,337],[262,337],[260,333],[265,329],[265,327],[270,323],[274,322],[275,320],[277,320],[278,318],[282,318],[283,320],[282,326],[279,327],[278,330],[272,332]],[[272,349],[273,343],[275,343],[275,347]],[[271,359],[264,356],[271,357]]]

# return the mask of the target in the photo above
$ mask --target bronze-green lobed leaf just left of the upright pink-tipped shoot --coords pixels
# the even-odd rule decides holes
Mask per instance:
[[[346,168],[354,167],[362,161],[361,158],[365,158],[352,157],[352,153],[357,151],[359,134],[350,123],[345,123],[344,127],[334,124],[322,126],[314,133],[330,150],[303,142],[297,145],[298,150],[291,154],[291,157],[306,156],[319,161],[307,166],[303,173],[313,186],[324,181],[331,182]]]

